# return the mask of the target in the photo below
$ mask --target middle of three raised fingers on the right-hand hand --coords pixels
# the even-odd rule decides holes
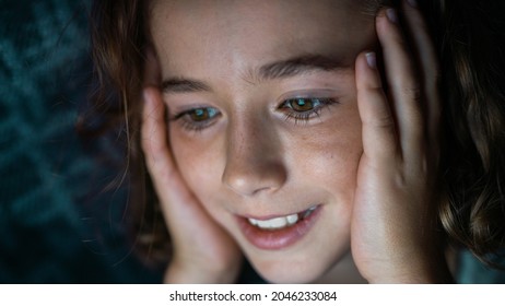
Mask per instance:
[[[379,12],[376,19],[377,35],[383,47],[386,79],[397,130],[404,160],[419,160],[424,148],[424,126],[421,111],[422,91],[415,78],[413,60],[398,26],[394,9]]]

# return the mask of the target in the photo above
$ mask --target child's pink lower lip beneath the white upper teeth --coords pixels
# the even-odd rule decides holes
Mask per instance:
[[[251,225],[246,217],[238,217],[238,225],[247,240],[257,248],[277,250],[301,240],[316,223],[320,210],[321,205],[318,205],[308,217],[281,229],[261,229]]]

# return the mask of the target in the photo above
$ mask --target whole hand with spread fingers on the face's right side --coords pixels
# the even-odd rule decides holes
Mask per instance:
[[[402,10],[416,57],[409,52],[395,11],[381,10],[376,17],[388,95],[375,54],[363,52],[356,59],[363,155],[351,248],[368,282],[447,282],[450,274],[439,244],[436,211],[438,67],[419,10],[406,1]]]

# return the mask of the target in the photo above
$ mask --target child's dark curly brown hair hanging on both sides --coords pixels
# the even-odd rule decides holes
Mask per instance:
[[[363,0],[372,7],[379,0]],[[130,208],[137,249],[154,261],[169,258],[169,235],[140,149],[144,51],[150,46],[148,0],[99,0],[92,11],[92,47],[97,91],[92,115],[101,123],[81,129],[107,132],[122,127],[131,184]],[[391,1],[398,2],[398,1]],[[491,263],[505,245],[505,22],[503,3],[474,0],[419,1],[441,62],[444,152],[439,221],[448,240]],[[387,3],[398,5],[398,3]]]

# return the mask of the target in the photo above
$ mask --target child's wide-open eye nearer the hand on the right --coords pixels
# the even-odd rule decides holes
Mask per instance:
[[[336,103],[338,103],[337,99],[328,97],[296,97],[282,102],[280,109],[284,110],[286,120],[294,119],[295,123],[297,123],[300,120],[308,121],[314,117],[318,117],[326,106]]]

